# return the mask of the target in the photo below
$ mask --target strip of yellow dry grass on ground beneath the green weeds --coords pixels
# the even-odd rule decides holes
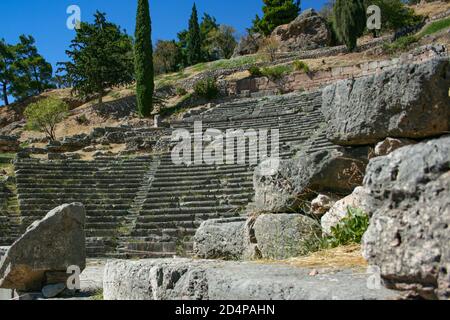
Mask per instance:
[[[299,268],[319,269],[362,269],[367,267],[367,262],[361,254],[360,245],[348,245],[321,250],[304,257],[291,258],[282,261],[260,260],[258,263],[281,263]]]

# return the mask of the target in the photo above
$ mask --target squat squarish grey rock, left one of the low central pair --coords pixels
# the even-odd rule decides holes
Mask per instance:
[[[245,218],[207,220],[194,237],[194,254],[203,259],[239,259],[244,250]]]

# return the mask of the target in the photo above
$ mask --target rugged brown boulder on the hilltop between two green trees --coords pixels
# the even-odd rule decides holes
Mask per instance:
[[[271,37],[280,43],[284,52],[326,47],[332,40],[327,21],[314,9],[305,10],[291,23],[278,26]]]

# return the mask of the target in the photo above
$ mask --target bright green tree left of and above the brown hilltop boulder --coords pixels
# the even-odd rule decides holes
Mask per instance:
[[[266,36],[276,27],[297,18],[300,13],[300,0],[263,0],[263,2],[264,16],[262,18],[256,16],[252,30],[262,32]]]

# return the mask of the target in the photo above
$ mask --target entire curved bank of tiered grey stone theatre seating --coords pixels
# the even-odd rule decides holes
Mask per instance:
[[[195,121],[201,120],[203,132],[267,129],[270,154],[270,129],[278,129],[280,156],[288,158],[298,150],[333,147],[320,106],[320,92],[229,102],[171,123],[161,141],[170,141],[168,134],[177,129],[195,134]],[[239,216],[253,200],[255,165],[249,162],[248,141],[235,143],[233,151],[235,156],[246,151],[245,163],[175,164],[171,153],[94,161],[21,159],[16,176],[22,225],[57,205],[82,202],[89,256],[189,256],[202,221]]]

